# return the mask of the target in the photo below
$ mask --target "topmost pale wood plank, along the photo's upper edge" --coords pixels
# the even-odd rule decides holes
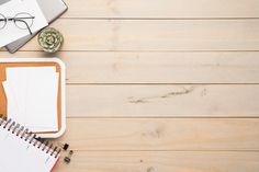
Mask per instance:
[[[258,18],[258,0],[66,0],[65,18]]]

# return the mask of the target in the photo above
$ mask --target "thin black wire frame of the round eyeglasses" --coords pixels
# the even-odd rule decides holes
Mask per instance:
[[[20,15],[20,14],[29,14],[30,16],[16,18],[16,16]],[[7,25],[7,23],[8,23],[9,21],[13,21],[14,24],[15,24],[16,22],[22,22],[22,23],[24,23],[24,24],[26,25],[26,28],[27,28],[27,31],[30,32],[30,34],[31,34],[31,35],[33,34],[33,33],[32,33],[32,30],[30,28],[31,26],[27,24],[26,21],[24,21],[25,19],[32,19],[32,24],[33,24],[33,20],[35,19],[35,16],[32,16],[30,13],[20,12],[20,13],[18,13],[18,14],[16,14],[15,16],[13,16],[13,18],[7,18],[7,16],[4,16],[3,14],[0,13],[0,16],[3,18],[3,19],[0,19],[0,22],[4,22],[4,25],[3,25],[2,27],[0,27],[0,30],[4,28],[5,25]],[[31,24],[31,25],[32,25],[32,24]],[[15,26],[19,27],[16,24],[15,24]],[[21,27],[19,27],[19,28],[21,28]],[[21,28],[21,30],[23,30],[23,28]]]

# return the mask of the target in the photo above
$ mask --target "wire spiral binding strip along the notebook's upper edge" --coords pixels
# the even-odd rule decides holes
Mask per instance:
[[[4,121],[0,118],[0,127],[7,129],[13,135],[16,135],[16,137],[27,141],[30,145],[37,147],[40,150],[49,153],[50,156],[55,156],[55,158],[57,158],[61,151],[61,149],[58,149],[57,147],[53,148],[53,144],[48,145],[48,141],[40,141],[36,139],[36,134],[29,131],[27,128],[16,124],[12,119]]]

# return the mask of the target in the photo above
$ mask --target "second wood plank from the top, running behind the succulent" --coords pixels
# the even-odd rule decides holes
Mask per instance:
[[[259,20],[68,20],[63,50],[258,50]],[[23,50],[41,49],[36,38]]]

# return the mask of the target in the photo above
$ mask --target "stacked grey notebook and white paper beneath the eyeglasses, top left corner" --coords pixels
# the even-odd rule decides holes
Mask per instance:
[[[32,34],[24,28],[21,30],[18,24],[9,21],[0,30],[0,47],[5,46],[10,53],[16,51],[66,10],[67,5],[63,0],[1,0],[0,20],[4,16],[15,18],[19,13],[29,13],[35,16],[35,19],[33,20],[33,24],[30,25]]]

